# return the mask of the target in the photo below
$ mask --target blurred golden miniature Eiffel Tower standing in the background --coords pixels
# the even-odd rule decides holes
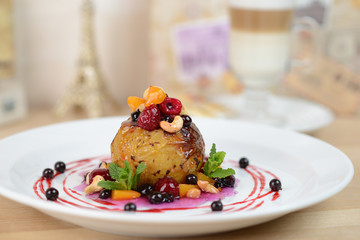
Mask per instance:
[[[104,102],[109,99],[95,53],[93,30],[94,6],[84,0],[81,7],[82,35],[78,69],[65,95],[55,107],[55,114],[64,116],[70,108],[79,106],[89,117],[104,115]]]

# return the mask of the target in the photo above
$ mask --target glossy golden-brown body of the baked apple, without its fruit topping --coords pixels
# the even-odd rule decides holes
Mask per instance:
[[[194,123],[176,133],[162,129],[150,132],[130,119],[122,123],[111,143],[111,160],[120,167],[128,160],[133,171],[144,162],[140,184],[154,185],[165,176],[185,183],[188,174],[202,167],[204,151],[204,140]]]

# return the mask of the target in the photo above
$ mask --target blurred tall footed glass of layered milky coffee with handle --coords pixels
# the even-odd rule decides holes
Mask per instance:
[[[295,0],[229,0],[230,67],[245,85],[242,118],[284,123],[267,111],[269,89],[289,68],[293,27],[316,28],[309,19],[294,21],[294,7]]]

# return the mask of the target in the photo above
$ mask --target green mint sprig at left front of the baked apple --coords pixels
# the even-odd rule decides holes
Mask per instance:
[[[142,162],[137,166],[135,173],[133,174],[128,160],[124,162],[124,168],[119,167],[116,163],[110,163],[110,177],[114,179],[115,182],[100,181],[98,186],[109,190],[136,190],[140,181],[141,173],[145,170],[145,168],[146,165]]]

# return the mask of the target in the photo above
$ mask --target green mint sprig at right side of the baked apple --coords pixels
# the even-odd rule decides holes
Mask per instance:
[[[235,174],[235,170],[232,168],[222,169],[219,168],[224,161],[226,153],[223,151],[217,152],[216,145],[213,143],[209,159],[204,165],[204,174],[210,178],[225,178]]]

